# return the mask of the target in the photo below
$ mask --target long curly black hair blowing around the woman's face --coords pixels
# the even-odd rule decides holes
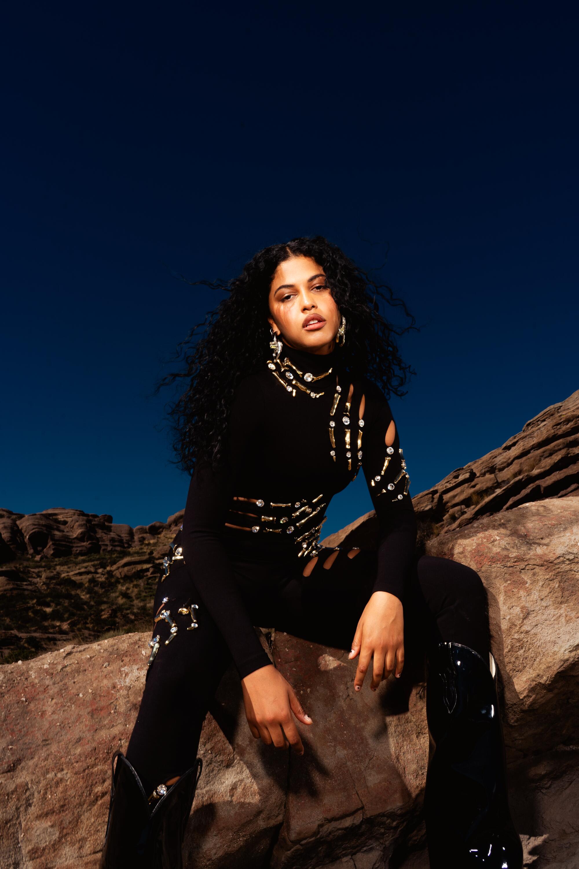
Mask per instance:
[[[261,370],[271,352],[270,286],[280,262],[293,256],[311,257],[326,273],[332,297],[345,315],[341,357],[345,370],[352,376],[365,375],[386,397],[405,395],[405,382],[415,372],[402,361],[395,336],[417,328],[405,302],[322,235],[273,244],[255,254],[241,274],[229,281],[187,281],[228,293],[178,345],[176,358],[184,363],[183,368],[162,377],[155,389],[158,392],[180,378],[187,381],[185,391],[169,405],[168,415],[178,457],[175,463],[189,473],[197,462],[215,467],[223,459],[234,388],[243,377]],[[385,320],[378,310],[378,298],[401,308],[410,322],[395,326]],[[195,336],[203,327],[206,334]]]

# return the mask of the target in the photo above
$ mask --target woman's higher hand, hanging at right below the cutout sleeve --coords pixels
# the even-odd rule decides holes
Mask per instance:
[[[395,594],[374,592],[361,614],[352,642],[353,660],[359,654],[354,688],[359,691],[372,655],[374,665],[370,687],[376,691],[383,679],[387,679],[396,667],[396,677],[402,673],[405,662],[404,615],[402,602]]]

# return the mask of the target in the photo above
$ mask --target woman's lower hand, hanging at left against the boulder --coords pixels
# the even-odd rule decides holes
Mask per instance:
[[[266,746],[273,742],[276,748],[290,745],[303,754],[304,746],[292,713],[302,724],[312,724],[312,719],[302,709],[293,687],[273,664],[253,670],[241,680],[241,687],[247,724],[255,739],[263,740]]]

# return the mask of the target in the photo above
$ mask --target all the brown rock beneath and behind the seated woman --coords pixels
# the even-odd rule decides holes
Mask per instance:
[[[578,409],[576,393],[414,499],[426,551],[474,567],[488,591],[512,808],[537,869],[579,865]],[[97,866],[150,634],[86,640],[148,624],[181,515],[121,531],[76,510],[0,512],[1,641],[12,656],[50,647],[0,667],[0,866]],[[374,533],[368,514],[326,542]],[[230,669],[201,735],[187,869],[426,869],[420,671],[358,694],[346,653],[260,636],[313,718],[306,753],[253,740]]]

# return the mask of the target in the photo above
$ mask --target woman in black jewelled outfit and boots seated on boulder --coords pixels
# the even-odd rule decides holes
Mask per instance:
[[[399,678],[405,647],[426,637],[431,866],[521,867],[483,584],[469,567],[415,554],[385,397],[409,368],[375,299],[407,313],[403,303],[321,237],[261,250],[227,289],[173,375],[189,380],[174,415],[194,473],[155,595],[141,707],[126,758],[113,758],[101,866],[181,866],[201,725],[231,660],[253,736],[304,753],[296,722],[313,722],[260,644],[253,626],[265,625],[351,649],[356,691]],[[378,547],[323,547],[326,507],[360,468]]]

